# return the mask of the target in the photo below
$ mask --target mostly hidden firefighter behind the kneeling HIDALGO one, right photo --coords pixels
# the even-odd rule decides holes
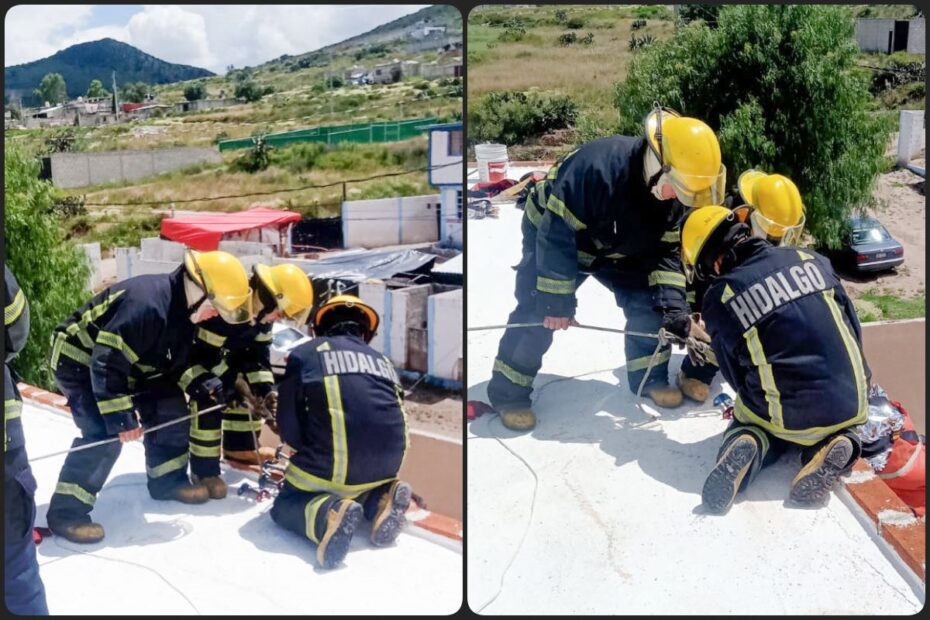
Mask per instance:
[[[786,176],[765,174],[758,170],[747,170],[737,181],[740,205],[734,215],[740,222],[750,224],[752,235],[765,239],[772,245],[793,246],[801,239],[804,230],[804,203],[797,186]],[[727,202],[731,199],[728,198]],[[735,202],[735,200],[734,200]],[[704,295],[710,280],[692,278],[688,282],[688,303],[692,310],[701,311]],[[713,353],[709,363],[698,366],[685,358],[681,364],[678,384],[685,396],[704,402],[710,395],[710,383],[717,374],[717,361]]]

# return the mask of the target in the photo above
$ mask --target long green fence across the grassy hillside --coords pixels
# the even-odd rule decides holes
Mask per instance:
[[[432,125],[436,121],[435,117],[427,117],[384,121],[381,123],[332,125],[330,127],[314,127],[313,129],[270,133],[265,136],[265,140],[268,146],[288,146],[301,142],[320,142],[323,144],[397,142],[398,140],[408,140],[420,135],[424,127]],[[231,151],[234,149],[247,149],[253,144],[252,138],[237,138],[235,140],[223,140],[219,143],[219,147],[220,151]]]

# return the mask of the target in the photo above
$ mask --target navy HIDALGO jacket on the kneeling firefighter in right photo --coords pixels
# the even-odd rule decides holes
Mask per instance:
[[[809,446],[865,422],[871,372],[852,301],[829,261],[749,239],[703,314],[737,420]]]

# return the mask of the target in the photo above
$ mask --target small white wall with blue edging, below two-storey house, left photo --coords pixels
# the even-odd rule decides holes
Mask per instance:
[[[428,373],[462,380],[462,289],[432,295],[428,302]]]

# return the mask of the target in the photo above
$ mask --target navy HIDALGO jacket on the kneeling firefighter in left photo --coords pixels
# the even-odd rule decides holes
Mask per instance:
[[[278,398],[278,430],[296,450],[284,476],[291,485],[352,498],[397,477],[407,450],[403,390],[390,359],[361,338],[295,348]]]

